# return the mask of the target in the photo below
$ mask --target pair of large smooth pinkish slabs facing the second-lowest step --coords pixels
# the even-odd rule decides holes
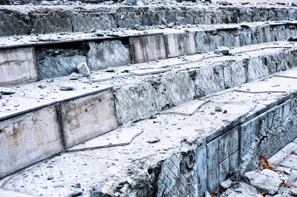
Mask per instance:
[[[0,178],[118,127],[112,91],[0,121]]]

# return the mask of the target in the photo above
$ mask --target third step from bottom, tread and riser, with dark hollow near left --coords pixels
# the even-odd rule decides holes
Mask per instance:
[[[43,35],[41,39],[48,42],[38,41],[39,37],[32,35],[5,37],[0,40],[0,86],[70,75],[81,62],[87,62],[90,70],[96,71],[218,47],[284,41],[297,36],[296,25],[296,21],[279,21],[151,29],[146,33],[125,30],[118,37],[108,33],[103,37],[93,37],[94,33]]]

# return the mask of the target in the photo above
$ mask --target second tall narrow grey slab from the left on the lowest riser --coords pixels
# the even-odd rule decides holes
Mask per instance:
[[[207,190],[213,193],[219,186],[219,140],[207,144]]]

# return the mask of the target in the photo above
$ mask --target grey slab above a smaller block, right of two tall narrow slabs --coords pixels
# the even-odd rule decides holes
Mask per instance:
[[[239,148],[239,127],[226,132],[219,137],[219,162],[229,157]]]

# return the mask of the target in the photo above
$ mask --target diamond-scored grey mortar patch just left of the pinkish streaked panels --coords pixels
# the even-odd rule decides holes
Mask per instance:
[[[87,60],[91,70],[131,63],[128,45],[119,40],[105,40],[101,43],[89,42],[89,46]]]

